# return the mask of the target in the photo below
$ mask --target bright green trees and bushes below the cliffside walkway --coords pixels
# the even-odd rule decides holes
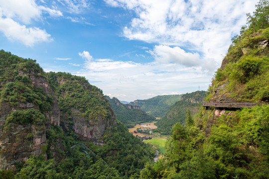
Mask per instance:
[[[204,129],[212,116],[205,110],[200,113],[197,126]],[[195,126],[177,123],[168,139],[165,158],[147,164],[140,178],[267,179],[268,124],[268,105],[222,115],[210,135]]]

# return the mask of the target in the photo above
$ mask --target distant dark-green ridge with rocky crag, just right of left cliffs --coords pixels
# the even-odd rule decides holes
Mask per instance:
[[[117,119],[126,124],[129,128],[134,127],[137,123],[151,122],[155,120],[155,117],[146,114],[139,106],[123,104],[116,97],[110,98],[109,96],[106,96],[106,98],[109,100]]]

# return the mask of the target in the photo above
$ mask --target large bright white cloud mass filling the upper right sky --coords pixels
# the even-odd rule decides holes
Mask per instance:
[[[156,60],[192,66],[199,63],[220,66],[231,43],[230,39],[246,24],[246,13],[255,9],[258,0],[105,0],[113,7],[135,12],[123,29],[130,40],[157,43],[153,50]],[[165,45],[165,46],[161,46]],[[176,46],[174,48],[168,46]],[[157,49],[159,48],[159,49]],[[181,50],[180,50],[181,49]],[[166,52],[165,52],[166,50]],[[182,51],[183,50],[183,51]],[[166,54],[165,54],[166,53]],[[179,57],[175,57],[179,55]],[[187,62],[187,58],[190,61]],[[196,59],[196,60],[195,60]],[[209,62],[208,62],[209,61]]]

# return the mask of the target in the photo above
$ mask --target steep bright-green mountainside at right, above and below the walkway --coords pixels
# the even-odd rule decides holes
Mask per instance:
[[[167,152],[141,179],[269,178],[269,3],[260,0],[249,26],[233,38],[208,89],[209,102],[259,102],[252,108],[201,107],[177,123]]]

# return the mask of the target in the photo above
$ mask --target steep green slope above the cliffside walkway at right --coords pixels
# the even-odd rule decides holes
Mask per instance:
[[[238,101],[269,101],[269,2],[260,0],[256,7],[253,16],[247,14],[249,27],[244,26],[232,39],[223,66],[216,72],[211,100],[227,96]],[[215,95],[222,85],[226,87]]]

